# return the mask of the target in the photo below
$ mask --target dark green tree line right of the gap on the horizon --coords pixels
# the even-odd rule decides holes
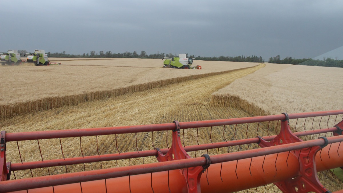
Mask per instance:
[[[277,55],[269,58],[268,63],[343,68],[343,60],[332,59],[330,57],[323,57],[323,60],[314,60],[312,58],[295,59],[292,57],[285,57],[284,59],[281,59],[280,55]]]

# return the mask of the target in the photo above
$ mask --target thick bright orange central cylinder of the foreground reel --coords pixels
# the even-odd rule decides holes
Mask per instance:
[[[339,143],[332,144],[329,152],[329,146],[322,149],[321,158],[319,152],[316,156],[317,171],[324,171],[331,167],[343,165],[342,157],[338,154],[329,154],[331,151],[336,151]],[[340,153],[343,155],[343,148],[340,148]],[[277,159],[276,159],[277,156]],[[202,174],[200,180],[202,193],[224,193],[236,192],[239,190],[246,190],[257,186],[270,184],[276,181],[282,181],[295,177],[299,171],[298,158],[290,154],[288,159],[288,152],[279,153],[279,155],[272,154],[264,156],[247,158],[237,161],[229,161],[211,164],[208,170]],[[264,162],[263,162],[264,160]],[[288,167],[286,164],[288,163]],[[276,162],[275,162],[276,161]],[[251,164],[250,164],[251,163]],[[263,168],[262,168],[263,163]],[[237,170],[236,170],[237,166]],[[221,170],[222,168],[222,170]],[[223,181],[222,181],[223,180]],[[65,184],[54,186],[55,193],[66,192],[187,192],[187,185],[185,178],[179,170],[156,172],[151,175],[141,174],[129,177],[112,178],[106,180],[97,180],[91,182],[82,182],[74,184]],[[23,191],[18,191],[23,192]],[[26,191],[24,191],[26,192]],[[31,192],[51,192],[52,187],[32,189]]]

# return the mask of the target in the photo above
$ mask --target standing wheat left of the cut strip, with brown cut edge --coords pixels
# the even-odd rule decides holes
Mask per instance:
[[[210,68],[212,64],[207,67],[203,65],[204,70],[162,69],[161,66],[149,69],[114,66],[113,70],[101,66],[3,68],[4,70],[1,71],[3,76],[0,76],[4,79],[0,95],[0,118],[66,105],[78,105],[86,101],[219,75],[238,68],[257,65],[256,63],[226,63],[226,66],[223,66],[223,64],[215,64],[214,68]]]

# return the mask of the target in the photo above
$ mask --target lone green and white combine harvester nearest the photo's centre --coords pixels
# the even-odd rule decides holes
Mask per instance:
[[[187,58],[186,54],[179,54],[179,57],[164,57],[163,68],[184,68],[184,69],[201,69],[201,66],[197,65],[192,67],[194,58]]]

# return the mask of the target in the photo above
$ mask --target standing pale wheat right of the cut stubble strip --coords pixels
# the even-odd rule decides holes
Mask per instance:
[[[267,64],[214,96],[238,96],[268,114],[343,109],[342,68]],[[337,99],[337,100],[335,100]]]

